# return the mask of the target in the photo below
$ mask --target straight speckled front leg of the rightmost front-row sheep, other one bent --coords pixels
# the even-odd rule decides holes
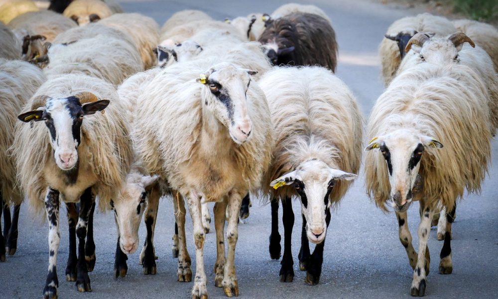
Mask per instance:
[[[425,295],[426,275],[429,274],[430,266],[430,256],[429,248],[427,246],[427,241],[429,239],[431,220],[434,211],[429,205],[424,205],[423,201],[420,201],[420,224],[418,226],[418,259],[416,267],[413,271],[413,281],[411,283],[410,294],[411,296],[422,297]],[[422,212],[423,211],[423,212]]]

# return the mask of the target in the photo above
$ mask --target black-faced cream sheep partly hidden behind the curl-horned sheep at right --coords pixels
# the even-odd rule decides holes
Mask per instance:
[[[394,78],[405,56],[406,44],[415,33],[430,32],[431,35],[446,36],[455,31],[455,26],[448,19],[430,13],[406,16],[394,21],[387,28],[378,47],[384,85],[387,86]]]

